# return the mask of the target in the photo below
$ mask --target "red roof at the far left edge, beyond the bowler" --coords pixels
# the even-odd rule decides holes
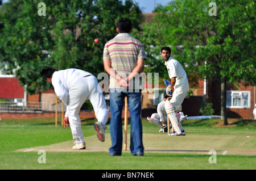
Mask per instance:
[[[24,88],[20,86],[18,78],[0,78],[0,98],[24,98]]]

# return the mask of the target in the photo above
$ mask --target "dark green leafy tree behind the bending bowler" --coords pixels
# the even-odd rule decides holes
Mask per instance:
[[[7,62],[7,73],[15,70],[29,94],[51,88],[40,76],[44,66],[78,68],[97,77],[104,71],[104,44],[117,35],[117,20],[126,16],[134,28],[142,20],[141,10],[130,0],[45,0],[46,16],[38,14],[38,3],[10,0],[0,9],[0,20],[7,24],[0,31],[0,61]],[[100,43],[94,44],[96,38]]]

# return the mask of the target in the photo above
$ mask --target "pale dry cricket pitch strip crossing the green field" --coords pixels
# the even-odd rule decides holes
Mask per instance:
[[[110,134],[105,135],[105,142],[98,140],[97,136],[84,137],[85,150],[72,150],[75,140],[60,142],[47,146],[19,149],[16,151],[28,152],[44,150],[46,152],[106,152],[111,146]],[[209,154],[215,150],[222,155],[256,155],[256,138],[254,136],[223,136],[223,135],[186,135],[168,136],[164,133],[143,134],[144,155],[147,153],[185,153]],[[127,150],[130,153],[130,134],[127,134]]]

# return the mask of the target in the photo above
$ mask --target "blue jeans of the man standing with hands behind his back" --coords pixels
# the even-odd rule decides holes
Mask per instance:
[[[140,92],[121,92],[120,90],[111,90],[110,93],[110,136],[112,146],[109,153],[122,153],[122,110],[125,96],[127,96],[130,113],[131,137],[130,151],[131,154],[144,153],[142,143],[142,122],[141,122],[141,91]]]

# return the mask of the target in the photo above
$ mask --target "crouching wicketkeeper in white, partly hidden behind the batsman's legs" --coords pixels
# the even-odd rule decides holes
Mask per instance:
[[[167,100],[167,98],[171,98],[164,92],[163,101],[158,104],[157,107],[157,113],[152,113],[151,117],[147,117],[147,120],[150,123],[155,124],[156,126],[160,127],[159,133],[166,133],[167,128],[167,113],[166,109],[164,108],[164,102]],[[187,120],[187,115],[185,116],[183,112],[179,112],[180,122],[183,123],[185,120]],[[172,125],[170,126],[170,130],[172,128]],[[181,135],[185,135],[185,132],[181,132]]]

